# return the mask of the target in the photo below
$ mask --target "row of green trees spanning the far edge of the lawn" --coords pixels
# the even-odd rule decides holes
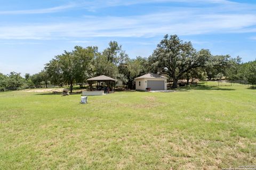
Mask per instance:
[[[196,51],[190,42],[177,35],[165,35],[149,57],[130,58],[122,46],[110,41],[109,46],[99,52],[97,46],[75,46],[71,52],[55,56],[45,64],[44,70],[22,78],[20,73],[0,73],[0,88],[22,88],[26,86],[74,84],[81,87],[86,80],[98,75],[118,79],[128,88],[134,88],[134,79],[148,72],[164,73],[178,87],[178,80],[246,80],[256,84],[256,61],[242,63],[242,58],[230,55],[212,55],[210,50]]]

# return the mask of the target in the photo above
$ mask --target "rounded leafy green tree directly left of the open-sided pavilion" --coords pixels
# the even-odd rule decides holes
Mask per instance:
[[[46,64],[45,69],[53,82],[70,84],[70,92],[72,92],[75,82],[83,83],[92,76],[93,61],[97,53],[97,47],[75,46],[72,52],[65,51],[63,54],[55,56]]]

